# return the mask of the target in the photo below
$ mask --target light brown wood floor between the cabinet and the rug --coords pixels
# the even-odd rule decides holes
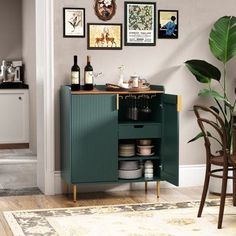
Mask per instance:
[[[78,201],[76,203],[72,201],[72,195],[0,197],[0,235],[12,235],[4,219],[3,211],[200,200],[201,191],[202,187],[163,188],[159,199],[156,198],[155,190],[148,190],[147,194],[145,191],[80,193],[77,196]],[[218,197],[210,194],[208,199],[210,198],[216,199]]]

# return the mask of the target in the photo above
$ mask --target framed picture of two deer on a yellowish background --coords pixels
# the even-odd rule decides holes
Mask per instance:
[[[88,24],[88,49],[122,49],[122,24]]]

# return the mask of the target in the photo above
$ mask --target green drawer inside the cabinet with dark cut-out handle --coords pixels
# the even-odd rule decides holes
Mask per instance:
[[[119,124],[119,139],[160,138],[161,124]]]

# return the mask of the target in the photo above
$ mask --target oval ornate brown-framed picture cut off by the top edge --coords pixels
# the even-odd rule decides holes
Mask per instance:
[[[110,20],[116,13],[115,0],[95,0],[95,14],[100,20]]]

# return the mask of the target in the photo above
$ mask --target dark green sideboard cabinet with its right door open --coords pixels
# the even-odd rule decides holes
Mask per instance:
[[[61,170],[68,184],[118,183],[166,180],[178,185],[179,141],[177,96],[164,93],[161,86],[149,92],[149,120],[127,120],[127,97],[140,93],[105,91],[71,92],[62,86],[60,92]],[[145,95],[146,96],[146,95]],[[152,139],[155,155],[119,157],[123,141]],[[152,160],[153,179],[119,179],[119,161]]]

